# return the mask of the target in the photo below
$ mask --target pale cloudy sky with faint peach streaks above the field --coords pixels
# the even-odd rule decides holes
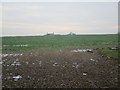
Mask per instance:
[[[114,34],[117,2],[3,3],[2,35]]]

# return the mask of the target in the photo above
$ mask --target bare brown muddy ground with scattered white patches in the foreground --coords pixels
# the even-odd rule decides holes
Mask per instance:
[[[3,88],[118,87],[117,60],[96,51],[33,50],[2,57]]]

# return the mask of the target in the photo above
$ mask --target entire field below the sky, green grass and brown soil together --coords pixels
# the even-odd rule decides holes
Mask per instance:
[[[118,87],[116,47],[117,34],[3,37],[3,88]]]

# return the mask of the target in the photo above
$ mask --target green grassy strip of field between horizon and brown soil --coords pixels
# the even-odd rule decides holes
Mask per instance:
[[[28,36],[4,37],[3,52],[64,49],[83,47],[115,47],[118,46],[118,35],[55,35],[55,36]],[[18,46],[15,46],[18,45]],[[24,45],[24,46],[19,46]],[[27,45],[27,46],[25,46]]]

